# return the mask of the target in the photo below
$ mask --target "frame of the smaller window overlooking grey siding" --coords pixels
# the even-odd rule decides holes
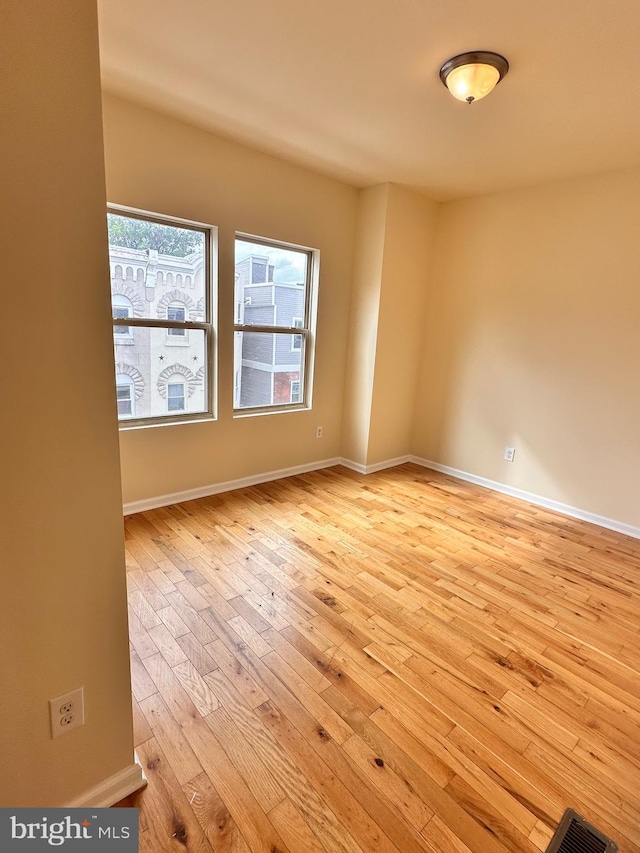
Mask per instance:
[[[308,246],[299,246],[294,243],[285,243],[279,240],[272,240],[267,237],[259,237],[252,234],[244,234],[241,232],[236,232],[236,240],[241,240],[244,243],[255,243],[256,244],[256,254],[258,254],[259,250],[263,246],[272,247],[276,249],[285,249],[291,250],[295,252],[302,252],[307,255],[307,277],[306,281],[303,283],[303,287],[305,289],[305,309],[304,309],[304,317],[294,317],[292,319],[292,325],[290,326],[256,326],[238,322],[237,318],[235,320],[233,329],[234,334],[236,332],[259,332],[273,335],[273,346],[275,350],[275,344],[277,341],[276,335],[288,334],[292,336],[291,339],[291,351],[300,353],[300,387],[302,391],[301,400],[299,403],[271,403],[270,405],[264,406],[239,406],[236,405],[234,399],[234,409],[233,415],[234,417],[247,417],[252,415],[266,415],[266,414],[276,414],[278,412],[288,412],[288,411],[296,411],[300,409],[311,409],[312,407],[312,393],[313,393],[313,371],[314,371],[314,357],[315,357],[315,325],[316,325],[316,316],[317,316],[317,304],[318,304],[318,282],[319,282],[319,273],[320,273],[320,253],[317,249],[312,249]],[[268,264],[267,264],[268,269]],[[268,274],[267,274],[268,278]],[[266,284],[267,286],[276,287],[277,282],[275,279],[273,281],[267,281],[261,283],[258,286],[262,286]],[[234,299],[237,299],[237,294],[234,295]],[[243,317],[244,319],[244,317]],[[274,317],[274,320],[276,318]],[[299,321],[300,325],[293,325],[295,321]],[[300,348],[294,347],[295,338],[293,336],[293,332],[295,331],[295,338],[300,340]],[[234,352],[237,351],[237,348],[234,347]],[[275,375],[275,370],[279,365],[274,365],[273,375],[271,377],[272,384],[272,400],[273,400],[273,380]],[[281,365],[283,369],[291,369],[291,366],[287,368],[285,365]],[[237,364],[235,361],[234,355],[234,372],[240,368],[242,369],[241,364]],[[297,380],[296,380],[297,381]],[[239,401],[238,401],[239,402]]]

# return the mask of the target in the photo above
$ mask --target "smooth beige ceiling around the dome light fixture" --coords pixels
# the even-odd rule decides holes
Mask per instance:
[[[99,0],[105,89],[446,200],[640,163],[638,0]],[[440,65],[511,64],[454,100]]]

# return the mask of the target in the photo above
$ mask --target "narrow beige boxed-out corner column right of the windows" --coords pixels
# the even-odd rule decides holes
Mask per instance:
[[[358,465],[410,450],[437,209],[397,184],[360,193],[342,445]]]

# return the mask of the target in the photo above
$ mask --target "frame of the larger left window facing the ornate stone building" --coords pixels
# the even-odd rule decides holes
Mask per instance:
[[[217,379],[217,353],[215,350],[215,324],[217,320],[216,310],[216,258],[217,258],[217,238],[218,229],[213,225],[207,225],[202,222],[194,222],[188,219],[180,219],[175,216],[167,216],[165,214],[152,213],[145,210],[138,210],[119,204],[108,204],[107,212],[117,216],[126,216],[130,219],[140,219],[144,222],[156,222],[160,225],[169,225],[174,228],[186,228],[193,231],[199,231],[204,234],[204,251],[205,251],[205,306],[203,320],[188,319],[188,312],[185,311],[184,322],[162,319],[157,317],[130,317],[127,320],[127,325],[133,333],[134,328],[150,328],[150,329],[184,329],[185,335],[188,335],[189,329],[202,329],[204,332],[204,364],[206,366],[205,377],[207,382],[207,390],[205,394],[205,410],[202,412],[168,412],[163,415],[147,415],[126,416],[119,420],[121,430],[136,429],[139,427],[162,426],[174,423],[184,423],[190,421],[214,420],[216,417],[215,411],[215,387]],[[112,318],[113,325],[122,326],[123,318]],[[123,337],[123,336],[118,336]],[[176,336],[178,340],[180,338]],[[117,338],[114,338],[117,342]],[[152,379],[152,377],[150,377]],[[185,386],[185,405],[188,398],[187,388]],[[167,404],[168,408],[168,404]],[[135,411],[135,410],[134,410]]]

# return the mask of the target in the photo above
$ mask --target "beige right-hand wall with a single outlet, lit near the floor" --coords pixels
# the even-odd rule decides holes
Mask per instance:
[[[415,454],[640,525],[639,197],[631,170],[442,206]]]

